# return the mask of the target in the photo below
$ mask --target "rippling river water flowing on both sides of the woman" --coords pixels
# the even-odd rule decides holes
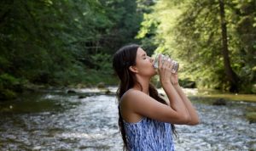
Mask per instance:
[[[0,103],[0,150],[122,150],[115,88],[110,91],[51,90]],[[256,123],[245,118],[256,103],[192,102],[201,124],[176,126],[176,150],[256,149]]]

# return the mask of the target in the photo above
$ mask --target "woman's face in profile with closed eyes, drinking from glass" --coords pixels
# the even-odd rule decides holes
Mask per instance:
[[[136,57],[136,68],[137,74],[141,76],[154,76],[156,75],[156,70],[153,67],[154,59],[148,57],[147,53],[143,50],[143,48],[137,49],[137,57]]]

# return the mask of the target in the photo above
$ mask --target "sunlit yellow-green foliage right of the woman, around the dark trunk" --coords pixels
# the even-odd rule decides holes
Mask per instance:
[[[240,91],[252,92],[256,83],[253,70],[256,64],[256,3],[250,0],[224,2],[230,65],[240,78],[237,81]],[[218,1],[160,0],[153,11],[144,16],[137,36],[146,40],[150,37],[146,48],[154,43],[158,46],[155,53],[169,54],[180,62],[182,79],[196,81],[198,87],[229,90],[221,52]]]

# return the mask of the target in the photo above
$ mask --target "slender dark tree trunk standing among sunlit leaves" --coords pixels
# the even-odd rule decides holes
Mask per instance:
[[[227,38],[227,26],[224,12],[224,0],[218,0],[219,14],[221,20],[221,33],[222,33],[222,54],[224,57],[224,71],[228,80],[230,81],[230,92],[238,92],[238,76],[232,70],[230,66],[228,38]]]

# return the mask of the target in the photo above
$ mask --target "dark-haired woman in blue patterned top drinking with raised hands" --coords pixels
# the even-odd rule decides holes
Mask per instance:
[[[119,128],[128,150],[174,150],[174,124],[196,125],[198,115],[172,74],[172,63],[159,58],[158,74],[169,101],[149,83],[157,74],[153,59],[138,45],[120,48],[113,56],[119,76]]]

